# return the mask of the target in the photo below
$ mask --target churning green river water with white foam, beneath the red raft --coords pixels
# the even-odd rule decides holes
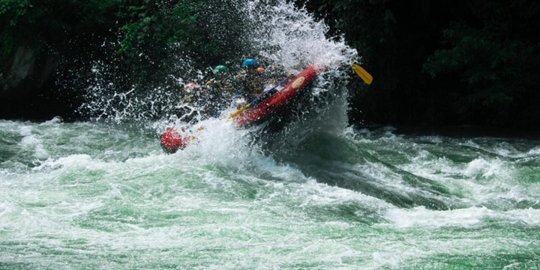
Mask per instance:
[[[539,140],[206,124],[0,121],[0,269],[540,267]]]

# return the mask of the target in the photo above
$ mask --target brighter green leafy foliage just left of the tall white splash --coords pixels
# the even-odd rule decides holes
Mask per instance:
[[[191,69],[222,63],[245,48],[244,31],[233,1],[130,1],[118,16],[120,41],[114,56],[121,73],[135,84],[159,86],[170,74],[182,73],[177,62],[192,60]],[[126,65],[127,64],[127,65]]]

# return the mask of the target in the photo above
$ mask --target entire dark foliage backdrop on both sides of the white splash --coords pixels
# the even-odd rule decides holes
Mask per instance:
[[[331,36],[343,34],[375,77],[371,91],[353,82],[353,122],[540,128],[537,1],[296,2],[324,18]],[[72,74],[85,81],[91,63],[101,61],[116,89],[167,85],[186,66],[204,69],[249,53],[243,4],[0,0],[0,81],[17,50],[30,48],[41,58],[36,63],[59,63],[50,80]]]

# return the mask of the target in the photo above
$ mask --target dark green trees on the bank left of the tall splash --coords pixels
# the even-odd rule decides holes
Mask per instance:
[[[240,2],[0,0],[0,117],[73,114],[95,63],[116,90],[148,90],[185,71],[179,60],[241,55]]]

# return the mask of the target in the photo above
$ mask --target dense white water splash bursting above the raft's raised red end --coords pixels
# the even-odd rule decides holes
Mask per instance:
[[[266,2],[250,1],[247,8],[260,56],[295,71],[313,64],[337,68],[359,60],[343,38],[329,39],[328,26],[306,10],[284,0],[275,5]]]

